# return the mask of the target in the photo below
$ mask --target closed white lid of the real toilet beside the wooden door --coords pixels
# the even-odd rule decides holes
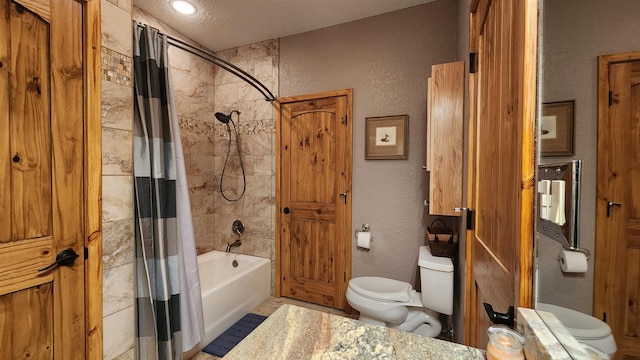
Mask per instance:
[[[401,301],[410,299],[411,284],[376,276],[363,276],[349,280],[349,287],[370,299]]]

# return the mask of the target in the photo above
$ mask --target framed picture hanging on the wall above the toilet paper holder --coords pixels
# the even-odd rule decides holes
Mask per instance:
[[[366,118],[365,160],[404,160],[408,152],[408,115]]]

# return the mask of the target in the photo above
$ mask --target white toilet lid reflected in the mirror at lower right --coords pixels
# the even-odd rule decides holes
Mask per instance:
[[[552,304],[538,303],[536,308],[555,315],[576,339],[600,339],[611,334],[607,323],[591,315]]]

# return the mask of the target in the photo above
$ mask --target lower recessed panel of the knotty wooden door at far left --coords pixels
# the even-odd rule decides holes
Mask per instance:
[[[0,355],[3,359],[53,356],[51,284],[0,296]]]

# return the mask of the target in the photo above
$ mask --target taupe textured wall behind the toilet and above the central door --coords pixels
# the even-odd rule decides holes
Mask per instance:
[[[426,79],[456,59],[456,2],[437,1],[280,39],[280,96],[353,88],[353,226],[371,225],[353,276],[414,282],[431,220],[425,160]],[[366,117],[409,115],[408,160],[364,160]]]

